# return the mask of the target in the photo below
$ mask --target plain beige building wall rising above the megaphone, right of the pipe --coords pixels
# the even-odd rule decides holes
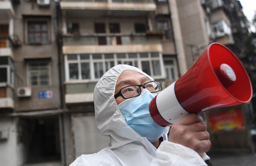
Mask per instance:
[[[188,45],[200,47],[209,44],[209,37],[204,24],[204,19],[207,19],[207,17],[200,4],[200,0],[177,0],[177,7],[186,53],[186,62],[188,68],[191,68],[194,60],[192,50]],[[202,52],[203,50],[198,54]]]

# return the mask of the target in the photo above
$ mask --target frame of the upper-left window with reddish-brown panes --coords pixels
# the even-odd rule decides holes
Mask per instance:
[[[47,24],[47,41],[46,42],[43,42],[42,39],[40,39],[40,42],[29,42],[29,39],[28,39],[28,23],[29,22],[46,22]],[[26,18],[25,19],[25,23],[24,23],[24,29],[25,29],[25,43],[26,44],[29,44],[29,45],[38,45],[38,44],[49,44],[51,43],[51,37],[50,37],[50,34],[51,34],[51,26],[50,26],[50,18]],[[42,35],[42,33],[40,33],[40,35]]]

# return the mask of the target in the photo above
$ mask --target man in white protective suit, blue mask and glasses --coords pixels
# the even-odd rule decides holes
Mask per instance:
[[[148,105],[161,89],[136,67],[108,70],[94,88],[94,107],[97,127],[110,144],[70,166],[207,166],[211,144],[202,117],[187,115],[171,128],[150,117]]]

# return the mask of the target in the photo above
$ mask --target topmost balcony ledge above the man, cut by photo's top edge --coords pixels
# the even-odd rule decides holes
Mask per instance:
[[[147,16],[156,11],[154,0],[62,0],[60,8],[66,16]]]

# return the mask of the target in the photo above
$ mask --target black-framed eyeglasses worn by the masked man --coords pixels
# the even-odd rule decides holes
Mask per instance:
[[[141,87],[147,89],[151,93],[159,92],[162,90],[162,85],[160,81],[150,81],[146,82],[145,84],[125,86],[124,88],[120,89],[120,91],[117,94],[115,94],[114,97],[116,99],[119,96],[122,96],[122,98],[128,99],[140,96]]]

